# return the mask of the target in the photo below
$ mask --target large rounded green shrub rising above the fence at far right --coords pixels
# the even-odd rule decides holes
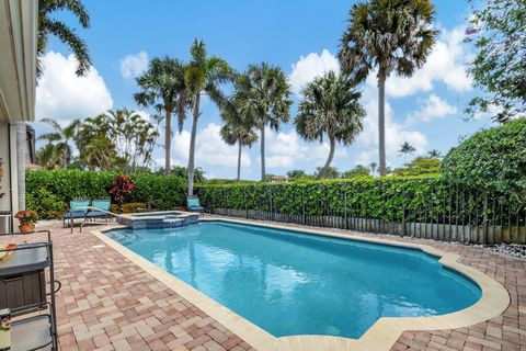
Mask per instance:
[[[442,172],[451,182],[524,197],[526,118],[473,134],[446,155]]]

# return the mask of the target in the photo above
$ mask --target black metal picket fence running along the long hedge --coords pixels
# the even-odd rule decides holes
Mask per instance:
[[[526,210],[515,194],[435,181],[425,188],[400,184],[396,191],[385,183],[215,186],[202,189],[199,196],[206,212],[225,216],[444,241],[526,244]]]

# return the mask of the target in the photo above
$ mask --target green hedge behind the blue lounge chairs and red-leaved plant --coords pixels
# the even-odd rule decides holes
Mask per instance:
[[[73,197],[107,197],[115,172],[77,169],[30,170],[26,172],[27,208],[42,219],[60,217]],[[183,206],[186,180],[175,176],[132,174],[137,185],[129,202],[141,202],[156,210]]]

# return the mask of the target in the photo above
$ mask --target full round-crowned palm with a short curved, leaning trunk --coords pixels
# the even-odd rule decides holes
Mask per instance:
[[[330,151],[325,165],[318,172],[321,178],[331,166],[336,141],[351,145],[362,131],[365,110],[348,79],[338,77],[334,71],[316,78],[302,90],[298,115],[294,124],[300,136],[307,140],[323,141],[329,138]]]

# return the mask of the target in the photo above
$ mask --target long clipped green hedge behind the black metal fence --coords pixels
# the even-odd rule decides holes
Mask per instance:
[[[517,196],[461,188],[442,177],[198,185],[208,208],[285,215],[354,216],[422,223],[516,222]],[[524,216],[519,217],[521,223]]]

